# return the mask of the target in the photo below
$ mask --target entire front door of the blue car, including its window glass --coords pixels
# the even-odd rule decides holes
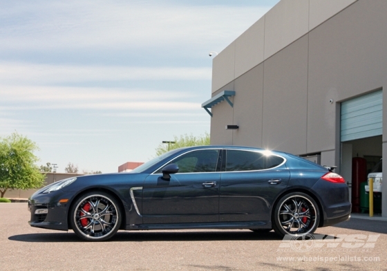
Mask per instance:
[[[179,173],[162,178],[162,170],[144,181],[143,221],[149,223],[201,223],[219,221],[219,149],[187,151],[174,158]]]

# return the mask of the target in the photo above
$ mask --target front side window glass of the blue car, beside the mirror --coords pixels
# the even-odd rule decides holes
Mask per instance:
[[[201,149],[190,151],[171,160],[169,164],[176,164],[179,167],[179,173],[191,172],[214,172],[218,162],[218,149]],[[159,169],[155,173],[161,173]]]

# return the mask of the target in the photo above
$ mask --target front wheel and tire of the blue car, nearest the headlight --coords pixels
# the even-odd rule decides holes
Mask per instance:
[[[70,210],[70,224],[86,241],[106,241],[120,228],[120,207],[113,196],[90,192],[78,198]]]

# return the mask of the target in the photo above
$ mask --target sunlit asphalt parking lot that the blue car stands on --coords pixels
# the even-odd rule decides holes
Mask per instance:
[[[352,218],[306,241],[274,232],[118,232],[88,243],[28,225],[26,203],[0,203],[0,270],[387,270],[387,222]]]

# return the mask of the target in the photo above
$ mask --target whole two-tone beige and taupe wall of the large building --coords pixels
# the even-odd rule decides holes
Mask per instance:
[[[211,109],[211,144],[321,153],[322,165],[347,165],[340,104],[386,88],[386,13],[387,1],[280,1],[213,60],[212,95],[236,94],[234,107],[221,102]],[[386,91],[383,98],[385,124]],[[225,130],[227,124],[239,129]],[[383,126],[381,148],[374,152],[386,157]]]

